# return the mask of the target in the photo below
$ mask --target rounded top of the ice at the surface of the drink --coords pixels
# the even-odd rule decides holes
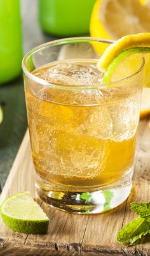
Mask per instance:
[[[94,64],[72,61],[56,64],[39,77],[54,84],[69,86],[90,86],[102,82],[102,72]]]

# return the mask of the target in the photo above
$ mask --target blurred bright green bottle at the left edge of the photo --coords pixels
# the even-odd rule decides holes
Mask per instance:
[[[19,0],[0,0],[0,84],[22,71],[22,40]]]

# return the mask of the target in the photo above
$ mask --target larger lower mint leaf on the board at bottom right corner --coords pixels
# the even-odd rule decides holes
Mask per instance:
[[[150,223],[144,218],[136,218],[119,230],[117,240],[126,245],[133,245],[135,241],[150,233]]]

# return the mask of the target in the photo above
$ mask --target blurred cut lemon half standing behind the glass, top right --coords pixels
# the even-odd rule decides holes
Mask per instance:
[[[91,36],[117,40],[126,34],[149,32],[150,8],[142,4],[139,0],[97,0],[90,21]],[[95,44],[99,54],[106,47]]]

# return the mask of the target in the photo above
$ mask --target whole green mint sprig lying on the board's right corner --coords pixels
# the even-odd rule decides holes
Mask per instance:
[[[117,236],[119,243],[125,243],[128,246],[150,233],[150,203],[133,202],[130,206],[130,209],[140,216],[119,230]]]

